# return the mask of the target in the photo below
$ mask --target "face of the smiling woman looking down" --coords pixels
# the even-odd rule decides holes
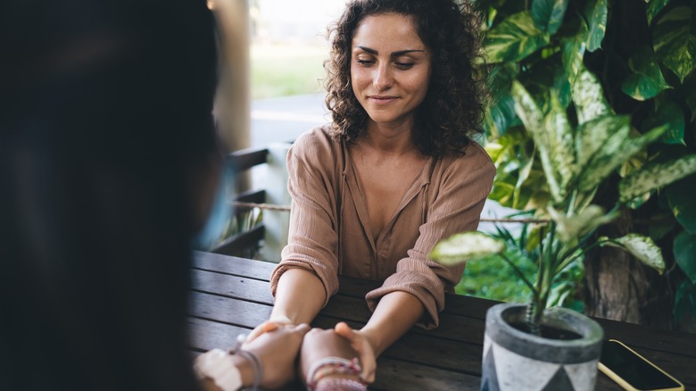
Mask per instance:
[[[366,17],[352,37],[352,92],[380,125],[413,119],[427,94],[431,60],[410,16],[385,13]]]

